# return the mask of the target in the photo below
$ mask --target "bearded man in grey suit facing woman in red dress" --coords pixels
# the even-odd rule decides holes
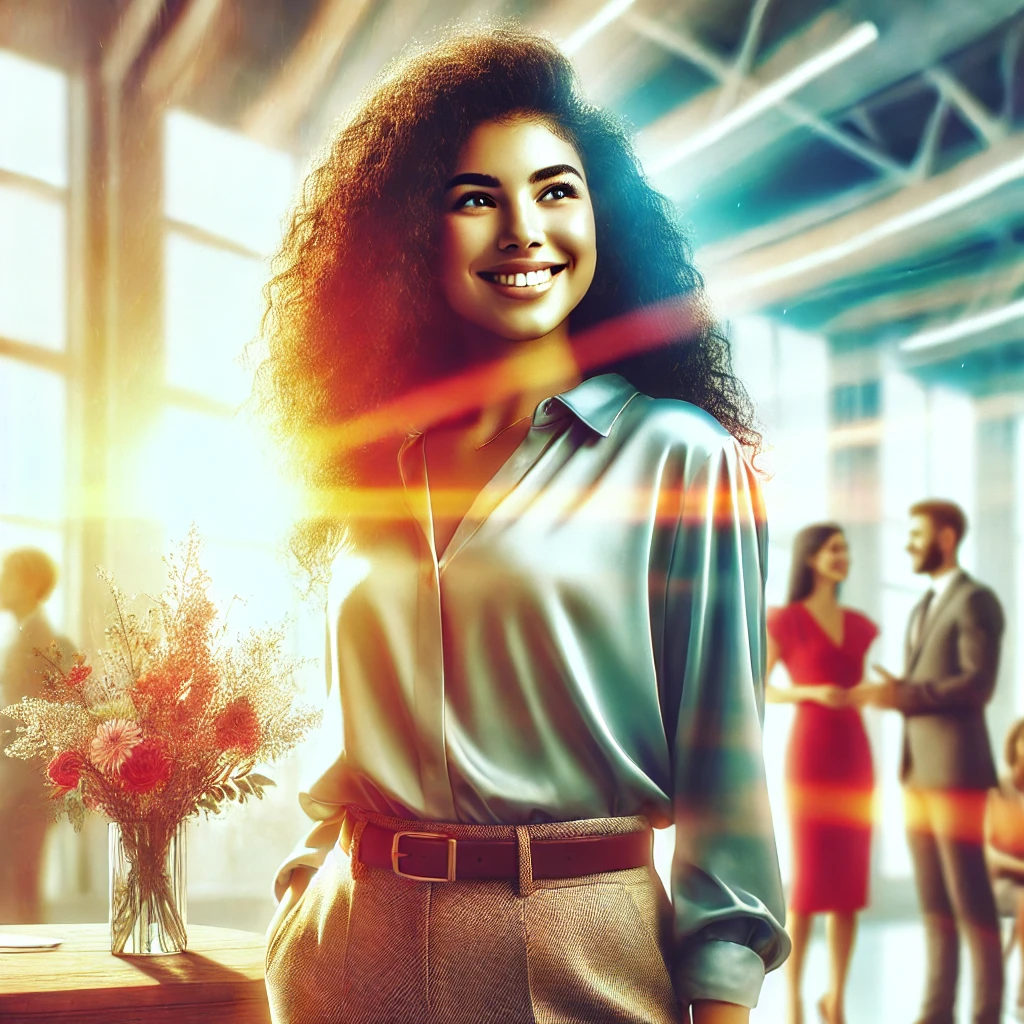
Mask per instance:
[[[910,613],[902,677],[878,668],[859,688],[866,703],[904,719],[901,779],[907,839],[925,915],[928,978],[919,1024],[953,1024],[959,936],[974,976],[975,1024],[998,1024],[1002,957],[984,856],[987,791],[995,765],[985,705],[995,688],[1002,608],[957,557],[967,530],[951,502],[910,509],[907,552],[932,585]]]

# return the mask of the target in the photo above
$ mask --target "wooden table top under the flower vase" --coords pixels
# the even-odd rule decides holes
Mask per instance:
[[[112,956],[105,924],[3,931],[65,940],[0,953],[3,1024],[269,1024],[262,935],[191,925],[186,952]]]

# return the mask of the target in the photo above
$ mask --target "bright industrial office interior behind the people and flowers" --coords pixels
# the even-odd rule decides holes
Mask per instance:
[[[872,660],[897,671],[924,589],[903,553],[907,507],[957,501],[965,565],[1007,611],[989,708],[1001,749],[1024,714],[1012,0],[0,0],[0,550],[55,558],[50,617],[94,651],[108,607],[95,566],[159,592],[161,554],[195,521],[216,598],[241,598],[232,627],[288,616],[317,698],[323,623],[281,557],[295,501],[243,408],[240,356],[282,218],[335,121],[411,41],[500,17],[572,54],[690,227],[769,445],[770,602],[795,532],[838,520],[844,603],[880,624]],[[769,708],[765,729],[783,874],[791,714]],[[916,907],[899,721],[868,713],[868,728],[884,964],[892,943],[910,955]],[[195,825],[191,920],[265,925],[274,867],[305,827],[302,764],[278,766],[264,802]],[[105,856],[98,819],[52,831],[49,920],[103,918]]]

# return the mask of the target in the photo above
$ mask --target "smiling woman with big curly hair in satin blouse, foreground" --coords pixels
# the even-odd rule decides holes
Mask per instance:
[[[364,566],[328,589],[276,1020],[745,1021],[787,949],[759,438],[625,133],[549,42],[450,38],[340,130],[276,270],[297,551]],[[658,346],[593,356],[666,300],[690,315]]]

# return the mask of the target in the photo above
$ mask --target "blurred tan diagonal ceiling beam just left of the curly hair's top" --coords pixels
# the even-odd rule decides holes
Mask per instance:
[[[243,129],[268,145],[287,141],[373,5],[374,0],[321,0],[284,67],[246,112]]]

